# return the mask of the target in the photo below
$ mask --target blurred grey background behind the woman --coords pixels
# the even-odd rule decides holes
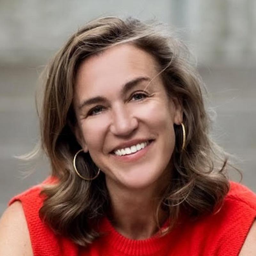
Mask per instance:
[[[0,214],[12,196],[49,174],[44,157],[13,157],[38,140],[35,92],[43,66],[79,26],[109,15],[155,18],[178,29],[217,113],[213,136],[237,156],[242,183],[256,192],[255,0],[0,0]],[[231,178],[239,180],[235,172]]]

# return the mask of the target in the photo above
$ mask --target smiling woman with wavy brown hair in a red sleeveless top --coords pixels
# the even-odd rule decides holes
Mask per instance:
[[[1,255],[255,255],[256,196],[228,182],[178,40],[102,18],[44,76],[52,176],[11,200]]]

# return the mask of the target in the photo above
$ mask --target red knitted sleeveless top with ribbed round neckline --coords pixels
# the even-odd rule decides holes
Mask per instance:
[[[243,185],[230,182],[223,206],[215,214],[196,221],[185,220],[167,235],[146,240],[122,236],[103,218],[100,229],[106,235],[83,248],[55,235],[40,220],[38,211],[43,204],[40,191],[41,185],[37,185],[9,203],[19,200],[23,206],[34,256],[235,256],[256,218],[256,195]]]

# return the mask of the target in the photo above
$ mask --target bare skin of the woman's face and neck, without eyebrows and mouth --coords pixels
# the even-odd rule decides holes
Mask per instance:
[[[156,198],[172,173],[173,125],[182,122],[178,100],[167,97],[157,73],[149,53],[123,44],[85,60],[76,77],[77,139],[106,174],[114,226],[132,239],[148,238],[157,230]],[[123,84],[138,77],[148,79],[122,94]],[[81,108],[96,96],[106,100]],[[154,141],[139,159],[124,162],[110,154],[120,143],[141,138]],[[160,221],[165,218],[160,212]]]

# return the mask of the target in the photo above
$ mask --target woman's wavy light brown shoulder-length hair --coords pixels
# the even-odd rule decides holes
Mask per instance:
[[[117,44],[130,43],[150,53],[158,63],[168,96],[178,98],[183,108],[186,146],[180,150],[182,130],[175,126],[172,179],[159,199],[157,223],[160,208],[169,213],[171,230],[181,212],[188,216],[213,212],[228,192],[227,155],[209,136],[211,122],[204,106],[204,84],[189,64],[187,48],[161,28],[132,18],[94,20],[72,35],[44,70],[41,145],[58,182],[44,187],[46,199],[40,216],[56,233],[76,244],[86,246],[100,235],[94,225],[111,207],[105,175],[101,172],[96,180],[85,181],[72,166],[81,148],[73,132],[76,72],[88,56]],[[80,155],[78,169],[86,177],[94,176],[97,167],[89,153]]]

